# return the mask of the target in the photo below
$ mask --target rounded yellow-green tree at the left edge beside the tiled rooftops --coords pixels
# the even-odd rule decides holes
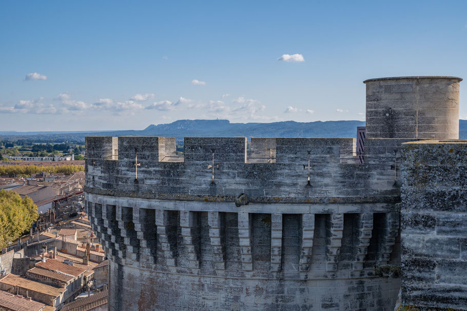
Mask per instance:
[[[13,191],[0,190],[0,247],[5,247],[23,233],[39,217],[31,198]]]

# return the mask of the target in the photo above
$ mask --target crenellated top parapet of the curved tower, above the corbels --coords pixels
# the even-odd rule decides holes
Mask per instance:
[[[396,202],[397,152],[410,139],[87,137],[90,193],[175,200]],[[102,156],[102,155],[107,155]],[[95,155],[95,156],[94,156]]]

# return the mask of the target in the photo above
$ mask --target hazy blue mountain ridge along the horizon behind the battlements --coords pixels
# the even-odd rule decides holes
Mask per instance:
[[[79,132],[14,132],[5,131],[0,135],[8,137],[41,136],[84,140],[85,136],[166,136],[177,137],[340,137],[352,138],[357,127],[365,126],[364,121],[281,121],[272,123],[230,123],[229,120],[177,120],[172,123],[150,125],[144,130],[134,131],[79,131]],[[467,139],[467,120],[459,120],[459,138]]]

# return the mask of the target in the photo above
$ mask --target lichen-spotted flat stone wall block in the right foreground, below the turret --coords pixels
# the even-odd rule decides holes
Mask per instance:
[[[467,309],[467,141],[406,143],[402,302]]]

